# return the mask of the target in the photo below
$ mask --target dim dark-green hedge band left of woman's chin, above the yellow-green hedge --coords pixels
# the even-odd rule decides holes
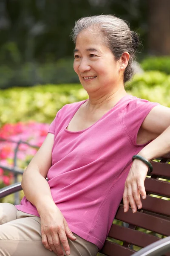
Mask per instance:
[[[73,69],[73,58],[38,64],[27,62],[21,66],[0,66],[0,88],[30,87],[35,84],[64,84],[79,82]]]

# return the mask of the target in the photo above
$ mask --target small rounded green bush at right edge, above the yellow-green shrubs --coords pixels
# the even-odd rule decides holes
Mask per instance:
[[[170,74],[170,57],[153,57],[145,58],[141,62],[143,70],[158,70],[166,74]]]

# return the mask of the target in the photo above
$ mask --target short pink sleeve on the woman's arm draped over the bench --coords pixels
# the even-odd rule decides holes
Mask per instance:
[[[133,99],[127,104],[123,115],[123,125],[127,135],[130,137],[130,140],[134,145],[137,145],[137,134],[142,122],[144,122],[144,119],[152,108],[157,105],[160,104],[136,97],[133,97]]]

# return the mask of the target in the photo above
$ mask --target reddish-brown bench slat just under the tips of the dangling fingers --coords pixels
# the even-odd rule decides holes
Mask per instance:
[[[170,221],[167,219],[148,215],[143,212],[133,213],[131,209],[125,213],[122,206],[119,207],[115,218],[164,236],[170,236]]]

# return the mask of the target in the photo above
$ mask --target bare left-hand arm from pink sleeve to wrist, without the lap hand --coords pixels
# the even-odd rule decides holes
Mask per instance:
[[[21,182],[24,195],[31,204],[34,204],[39,214],[45,206],[54,206],[50,187],[46,180],[48,170],[51,167],[53,143],[54,134],[48,134],[41,148],[24,171]]]

